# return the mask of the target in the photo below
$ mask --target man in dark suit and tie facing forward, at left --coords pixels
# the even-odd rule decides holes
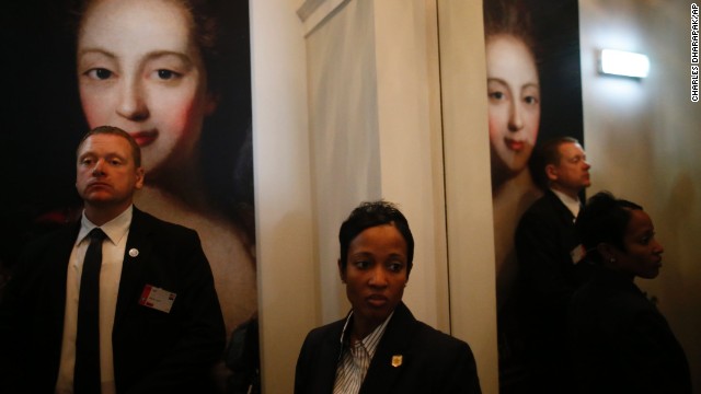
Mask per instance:
[[[195,231],[133,206],[143,176],[139,147],[125,131],[97,127],[80,142],[76,186],[84,201],[82,219],[27,247],[0,309],[3,392],[211,387],[209,373],[226,340],[211,270]],[[88,270],[85,251],[95,228],[106,236],[97,246],[99,338],[92,351],[99,368],[89,379],[94,384],[83,387],[74,379],[88,300],[80,300],[88,287],[81,273]]]

